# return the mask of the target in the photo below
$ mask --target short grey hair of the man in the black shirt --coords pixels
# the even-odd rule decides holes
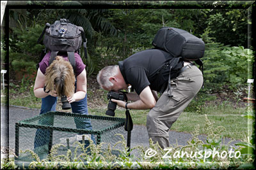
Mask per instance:
[[[115,66],[106,66],[103,69],[99,71],[97,74],[97,81],[102,88],[104,87],[111,87],[113,86],[113,83],[109,81],[109,78],[111,76],[115,76],[118,73],[118,65]]]

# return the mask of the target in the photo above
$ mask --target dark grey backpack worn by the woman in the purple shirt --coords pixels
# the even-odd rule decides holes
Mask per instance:
[[[41,53],[41,60],[47,50],[51,51],[49,66],[57,56],[58,52],[67,52],[68,60],[74,69],[74,73],[76,73],[74,53],[79,53],[82,43],[84,47],[84,57],[87,59],[87,39],[85,38],[83,27],[74,25],[67,19],[61,18],[60,20],[56,20],[52,25],[49,23],[45,24],[44,30],[42,31],[40,38],[38,38],[37,43],[40,43],[43,36],[45,50]],[[38,66],[39,64],[37,65],[37,69]]]

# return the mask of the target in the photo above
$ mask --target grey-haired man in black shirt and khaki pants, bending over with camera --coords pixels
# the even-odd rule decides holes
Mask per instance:
[[[128,93],[128,101],[111,99],[127,109],[147,110],[148,138],[161,148],[170,146],[170,127],[198,93],[203,76],[191,62],[175,58],[163,50],[150,49],[135,53],[118,65],[99,71],[97,81],[104,90],[118,92],[129,85],[136,94]],[[158,99],[157,92],[161,96]]]

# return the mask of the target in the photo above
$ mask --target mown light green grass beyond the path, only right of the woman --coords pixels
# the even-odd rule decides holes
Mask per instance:
[[[92,115],[106,116],[106,110],[89,108],[89,113]],[[178,132],[193,132],[196,125],[200,125],[200,134],[205,132],[205,115],[214,123],[214,126],[223,126],[226,131],[223,132],[225,138],[244,139],[248,131],[248,120],[241,115],[247,112],[246,108],[232,108],[225,104],[220,106],[207,106],[203,109],[204,114],[183,112],[178,120],[173,124],[171,130]],[[148,110],[131,110],[133,124],[146,125]],[[115,117],[125,118],[125,110],[117,108]]]

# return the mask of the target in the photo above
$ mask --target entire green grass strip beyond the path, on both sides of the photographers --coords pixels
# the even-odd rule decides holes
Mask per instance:
[[[17,90],[19,89],[19,90]],[[15,94],[12,96],[11,94]],[[90,94],[91,93],[91,94]],[[9,89],[9,104],[15,106],[26,106],[28,108],[38,108],[41,107],[41,99],[36,99],[33,94],[33,87],[29,83],[24,83],[22,88],[15,87],[11,85]],[[95,96],[90,90],[88,90],[88,96]],[[200,125],[200,134],[207,134],[205,132],[205,115],[214,123],[214,126],[225,127],[225,132],[223,136],[225,138],[232,139],[244,139],[248,132],[248,120],[241,115],[246,114],[246,108],[234,108],[231,103],[223,102],[220,104],[208,104],[204,106],[204,100],[211,101],[208,96],[200,96],[197,101],[191,102],[188,108],[180,115],[178,120],[172,125],[172,131],[178,132],[193,132],[196,125]],[[6,97],[1,97],[1,103],[6,101]],[[97,99],[100,103],[108,104],[106,97],[101,96]],[[90,103],[90,101],[88,101]],[[199,106],[200,108],[196,108]],[[60,106],[59,106],[60,105]],[[104,108],[90,108],[88,107],[89,114],[106,116],[106,106]],[[58,101],[57,110],[61,109],[60,101]],[[149,110],[130,110],[133,124],[146,125],[147,114]],[[116,108],[115,117],[125,118],[125,109],[120,107]]]

